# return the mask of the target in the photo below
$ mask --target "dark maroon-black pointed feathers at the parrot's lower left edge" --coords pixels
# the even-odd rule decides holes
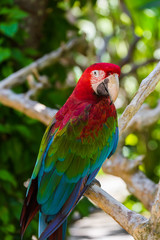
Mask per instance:
[[[33,179],[29,187],[29,191],[25,198],[23,209],[20,218],[21,226],[21,239],[23,239],[24,232],[31,222],[32,218],[36,215],[40,209],[37,203],[37,191],[38,191],[38,181],[37,178]]]

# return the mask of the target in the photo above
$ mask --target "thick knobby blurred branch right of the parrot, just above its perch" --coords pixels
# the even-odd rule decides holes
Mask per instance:
[[[143,156],[128,160],[117,153],[103,164],[105,173],[121,177],[127,184],[128,190],[150,210],[154,202],[157,185],[138,170]]]

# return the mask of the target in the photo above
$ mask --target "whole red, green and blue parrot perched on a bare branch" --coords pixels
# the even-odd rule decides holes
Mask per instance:
[[[64,240],[67,217],[118,144],[120,67],[94,63],[85,69],[41,141],[24,200],[21,239],[39,212],[39,240]]]

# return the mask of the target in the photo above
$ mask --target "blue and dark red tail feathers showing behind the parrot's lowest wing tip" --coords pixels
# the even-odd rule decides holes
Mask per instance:
[[[38,231],[39,237],[48,225],[46,223],[46,219],[47,219],[47,216],[40,212],[39,213],[39,231]],[[52,220],[52,217],[50,218],[50,220]],[[47,238],[47,240],[65,240],[66,228],[67,228],[67,220],[65,220],[63,224]]]

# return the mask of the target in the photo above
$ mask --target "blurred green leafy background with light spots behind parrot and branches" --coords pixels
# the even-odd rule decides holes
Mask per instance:
[[[160,1],[1,0],[0,80],[77,36],[82,39],[78,46],[40,72],[48,78],[49,84],[33,97],[34,100],[59,109],[87,66],[99,61],[112,62],[122,69],[116,102],[120,116],[141,80],[160,59]],[[28,89],[25,82],[12,90],[18,94]],[[154,108],[159,98],[160,84],[146,103]],[[1,239],[20,239],[24,183],[31,176],[45,128],[42,123],[0,104]],[[141,170],[158,182],[159,149],[160,120],[128,135],[122,151],[125,157],[132,159],[144,154]],[[100,176],[103,176],[102,171]],[[125,204],[137,212],[146,211],[133,196],[128,196]],[[93,210],[93,205],[84,198],[70,216],[70,223]],[[24,239],[36,235],[37,219],[28,227]]]

